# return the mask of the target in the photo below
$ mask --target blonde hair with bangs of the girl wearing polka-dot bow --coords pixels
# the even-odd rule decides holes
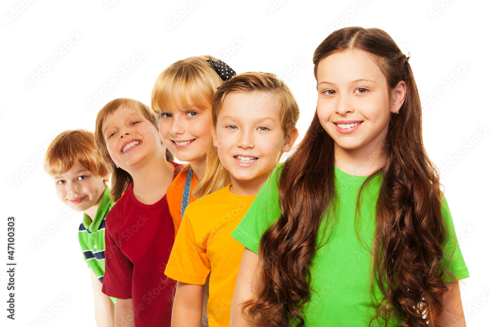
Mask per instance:
[[[189,57],[172,63],[159,74],[151,93],[151,109],[156,115],[166,111],[185,111],[192,106],[211,110],[214,92],[221,86],[222,79],[207,61],[209,58],[218,61],[210,56]],[[209,151],[212,152],[212,146],[208,154]],[[189,166],[187,164],[181,170],[186,171]],[[226,173],[219,170],[212,186],[204,186],[199,181],[193,195],[198,199],[223,188],[230,183],[230,179],[224,176]]]

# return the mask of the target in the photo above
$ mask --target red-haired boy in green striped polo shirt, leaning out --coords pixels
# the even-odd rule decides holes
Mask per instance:
[[[44,171],[55,183],[58,198],[75,211],[83,211],[78,240],[90,268],[97,326],[114,326],[114,304],[102,293],[105,271],[105,216],[112,207],[109,167],[87,130],[68,130],[47,148]]]

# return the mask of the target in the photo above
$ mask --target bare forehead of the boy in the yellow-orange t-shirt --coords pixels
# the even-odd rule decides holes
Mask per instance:
[[[253,91],[230,93],[222,102],[220,117],[238,117],[246,119],[269,118],[280,121],[277,97],[270,92]]]

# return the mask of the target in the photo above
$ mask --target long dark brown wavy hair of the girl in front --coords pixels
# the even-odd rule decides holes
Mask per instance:
[[[383,166],[376,175],[382,184],[376,207],[371,289],[377,319],[402,327],[434,326],[442,313],[446,291],[440,265],[445,241],[442,195],[436,167],[422,142],[421,101],[406,56],[394,40],[377,28],[347,27],[333,32],[315,50],[314,77],[321,60],[338,51],[359,49],[378,63],[392,90],[400,81],[406,95],[399,114],[393,114],[384,147]],[[333,224],[326,215],[335,204],[334,144],[321,126],[317,112],[277,181],[281,217],[260,241],[259,264],[263,288],[244,303],[244,317],[253,326],[283,327],[292,321],[304,326],[304,306],[311,299],[311,260],[324,231]],[[358,211],[358,210],[357,210]],[[325,218],[324,218],[325,217]],[[321,239],[320,239],[321,240]],[[327,241],[326,241],[327,242]],[[373,291],[372,291],[373,294]]]

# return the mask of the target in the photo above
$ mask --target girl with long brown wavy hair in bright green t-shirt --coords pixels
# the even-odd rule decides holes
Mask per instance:
[[[233,237],[231,326],[465,326],[467,278],[408,57],[376,28],[313,57],[317,109]]]

